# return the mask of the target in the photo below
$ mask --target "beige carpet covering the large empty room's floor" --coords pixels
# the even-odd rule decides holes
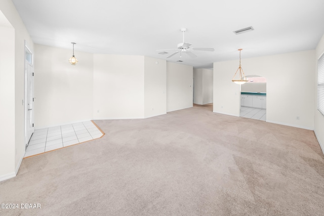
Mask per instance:
[[[26,158],[0,183],[0,203],[40,209],[0,215],[324,214],[324,156],[312,131],[212,106],[95,122],[103,138]]]

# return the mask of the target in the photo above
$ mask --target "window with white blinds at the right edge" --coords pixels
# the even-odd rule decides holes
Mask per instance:
[[[324,54],[318,59],[317,109],[324,116]]]

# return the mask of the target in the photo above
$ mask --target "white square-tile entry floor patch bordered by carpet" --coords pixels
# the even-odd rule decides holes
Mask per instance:
[[[25,157],[102,137],[92,121],[36,129],[28,143]]]

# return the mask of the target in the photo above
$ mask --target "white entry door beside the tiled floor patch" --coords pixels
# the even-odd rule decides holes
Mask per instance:
[[[33,89],[34,89],[33,56],[25,46],[25,145],[27,147],[31,135],[34,133]]]

